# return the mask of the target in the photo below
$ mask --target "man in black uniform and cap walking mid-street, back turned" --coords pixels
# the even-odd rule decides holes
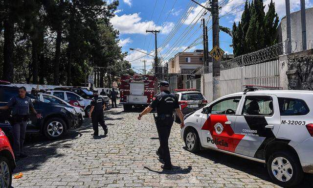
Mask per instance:
[[[163,159],[164,161],[164,165],[161,165],[161,168],[171,170],[172,163],[170,150],[168,147],[168,139],[174,122],[174,109],[176,110],[176,113],[178,114],[181,122],[180,128],[184,127],[185,125],[183,121],[183,115],[179,109],[178,99],[174,94],[171,94],[168,91],[169,83],[162,81],[158,87],[160,88],[160,93],[153,97],[152,103],[139,114],[138,119],[140,120],[142,116],[148,114],[152,109],[156,108],[156,129],[160,141],[160,147],[156,151],[156,155],[158,155],[159,158]]]

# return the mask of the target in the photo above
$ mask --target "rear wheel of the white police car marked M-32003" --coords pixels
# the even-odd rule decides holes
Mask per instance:
[[[278,151],[271,154],[267,167],[270,178],[282,187],[294,187],[304,176],[298,158],[291,152]]]

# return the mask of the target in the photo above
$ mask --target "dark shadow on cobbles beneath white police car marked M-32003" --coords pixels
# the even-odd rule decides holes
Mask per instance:
[[[183,148],[186,150],[186,147]],[[268,175],[268,170],[265,167],[265,164],[247,160],[233,155],[227,155],[210,149],[202,150],[196,155],[204,157],[210,161],[213,161],[215,164],[223,164],[236,170],[246,172],[247,174],[253,175],[262,180],[272,182]],[[313,175],[305,174],[302,183],[297,187],[313,188]]]

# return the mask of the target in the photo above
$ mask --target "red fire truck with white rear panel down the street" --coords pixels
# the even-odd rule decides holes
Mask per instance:
[[[122,75],[120,89],[120,104],[124,110],[134,107],[147,107],[157,91],[157,78],[152,75],[134,74]]]

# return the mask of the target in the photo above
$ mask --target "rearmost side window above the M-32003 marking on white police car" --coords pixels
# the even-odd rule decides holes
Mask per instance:
[[[308,105],[300,99],[278,97],[281,116],[302,116],[310,112]]]

